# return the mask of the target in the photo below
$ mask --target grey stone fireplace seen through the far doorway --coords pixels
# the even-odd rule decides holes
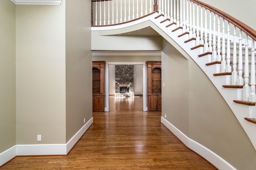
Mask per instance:
[[[116,92],[115,97],[133,97],[134,96],[134,66],[116,65],[115,79]]]

